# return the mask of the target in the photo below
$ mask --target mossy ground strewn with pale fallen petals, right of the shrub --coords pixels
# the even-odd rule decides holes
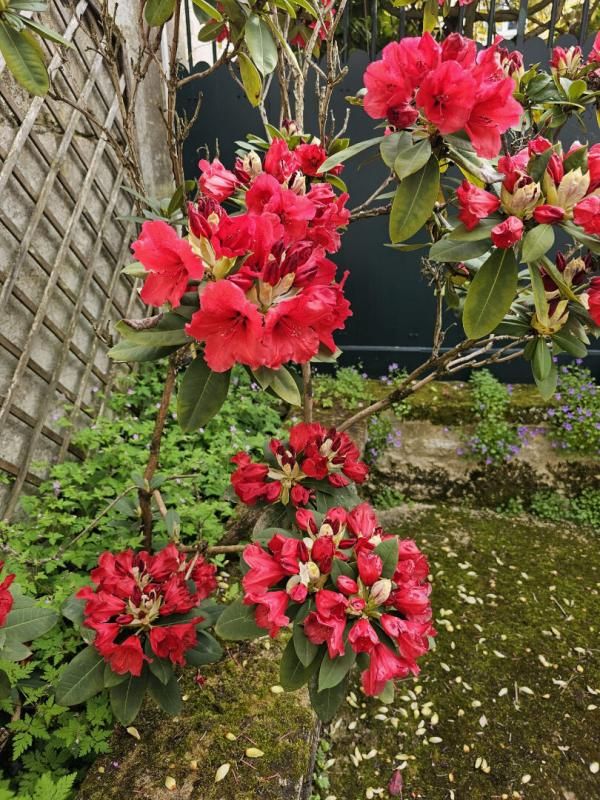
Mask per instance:
[[[358,709],[330,733],[326,794],[388,797],[405,764],[405,798],[600,797],[598,539],[441,506],[409,509],[396,529],[430,559],[436,650],[387,707],[355,689]],[[356,747],[377,752],[355,766]]]

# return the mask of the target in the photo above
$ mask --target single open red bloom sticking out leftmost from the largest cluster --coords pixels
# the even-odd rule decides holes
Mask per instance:
[[[149,273],[140,292],[148,305],[170,303],[176,308],[190,280],[202,280],[204,275],[202,259],[162,220],[144,222],[131,249]]]

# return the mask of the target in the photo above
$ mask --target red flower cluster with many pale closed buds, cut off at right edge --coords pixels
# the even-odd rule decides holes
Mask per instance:
[[[531,173],[538,158],[546,165],[536,180]],[[537,136],[516,155],[502,156],[498,170],[503,176],[499,196],[466,180],[457,190],[458,216],[468,230],[500,210],[508,218],[492,229],[497,247],[516,244],[526,225],[572,220],[587,234],[600,233],[600,145],[587,151],[575,143],[563,154],[560,145]]]

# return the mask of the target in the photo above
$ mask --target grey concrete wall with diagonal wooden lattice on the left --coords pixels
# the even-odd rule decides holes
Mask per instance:
[[[126,41],[135,42],[137,2],[123,6],[119,23]],[[98,15],[87,0],[54,0],[44,21],[72,40],[68,50],[44,48],[52,91],[74,105],[32,99],[0,59],[0,514],[6,518],[48,464],[81,456],[60,419],[93,419],[97,398],[113,380],[112,326],[142,311],[134,284],[120,275],[136,230],[119,217],[132,212],[132,198],[110,146],[82,113],[92,112],[122,139],[113,84],[90,37],[92,26],[102,35]],[[160,99],[158,80],[151,79],[140,97],[139,135],[148,191],[157,195],[170,189]]]

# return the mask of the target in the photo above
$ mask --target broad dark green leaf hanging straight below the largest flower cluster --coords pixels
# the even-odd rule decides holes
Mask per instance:
[[[177,394],[177,420],[189,433],[206,425],[227,398],[231,372],[213,372],[202,356],[185,371]]]

